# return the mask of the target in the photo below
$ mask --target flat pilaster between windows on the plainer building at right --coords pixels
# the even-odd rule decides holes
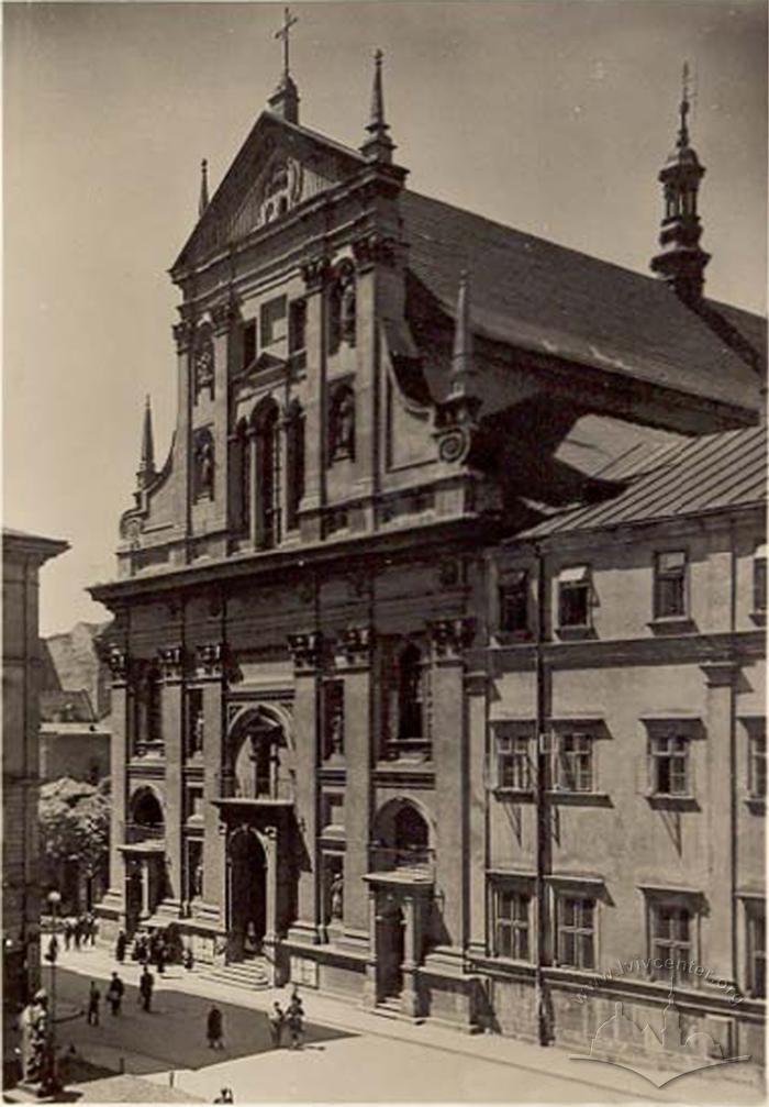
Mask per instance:
[[[739,666],[732,662],[702,666],[707,684],[705,761],[707,811],[702,816],[708,835],[707,940],[700,954],[713,976],[735,982],[739,975],[732,955],[735,918],[735,685]],[[696,741],[696,739],[694,739]]]

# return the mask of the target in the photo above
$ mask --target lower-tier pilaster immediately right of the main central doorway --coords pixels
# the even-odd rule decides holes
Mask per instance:
[[[291,634],[294,661],[294,741],[297,746],[297,825],[301,832],[297,920],[289,931],[294,941],[320,940],[321,879],[318,850],[318,670],[323,639],[320,632]]]

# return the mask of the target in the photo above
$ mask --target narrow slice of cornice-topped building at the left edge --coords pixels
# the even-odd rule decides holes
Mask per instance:
[[[2,994],[11,1010],[40,980],[40,568],[66,542],[2,531]]]

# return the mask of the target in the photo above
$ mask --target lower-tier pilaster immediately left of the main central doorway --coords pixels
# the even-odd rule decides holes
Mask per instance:
[[[212,800],[222,790],[224,691],[226,646],[209,642],[197,649],[197,679],[202,682],[204,839],[202,902],[199,913],[226,925],[226,838]]]

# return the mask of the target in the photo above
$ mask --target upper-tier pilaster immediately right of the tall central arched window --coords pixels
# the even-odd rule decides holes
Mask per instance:
[[[304,496],[299,507],[303,541],[321,537],[320,511],[325,501],[325,281],[330,262],[324,255],[302,267],[306,289],[305,345],[308,359],[304,410]]]

